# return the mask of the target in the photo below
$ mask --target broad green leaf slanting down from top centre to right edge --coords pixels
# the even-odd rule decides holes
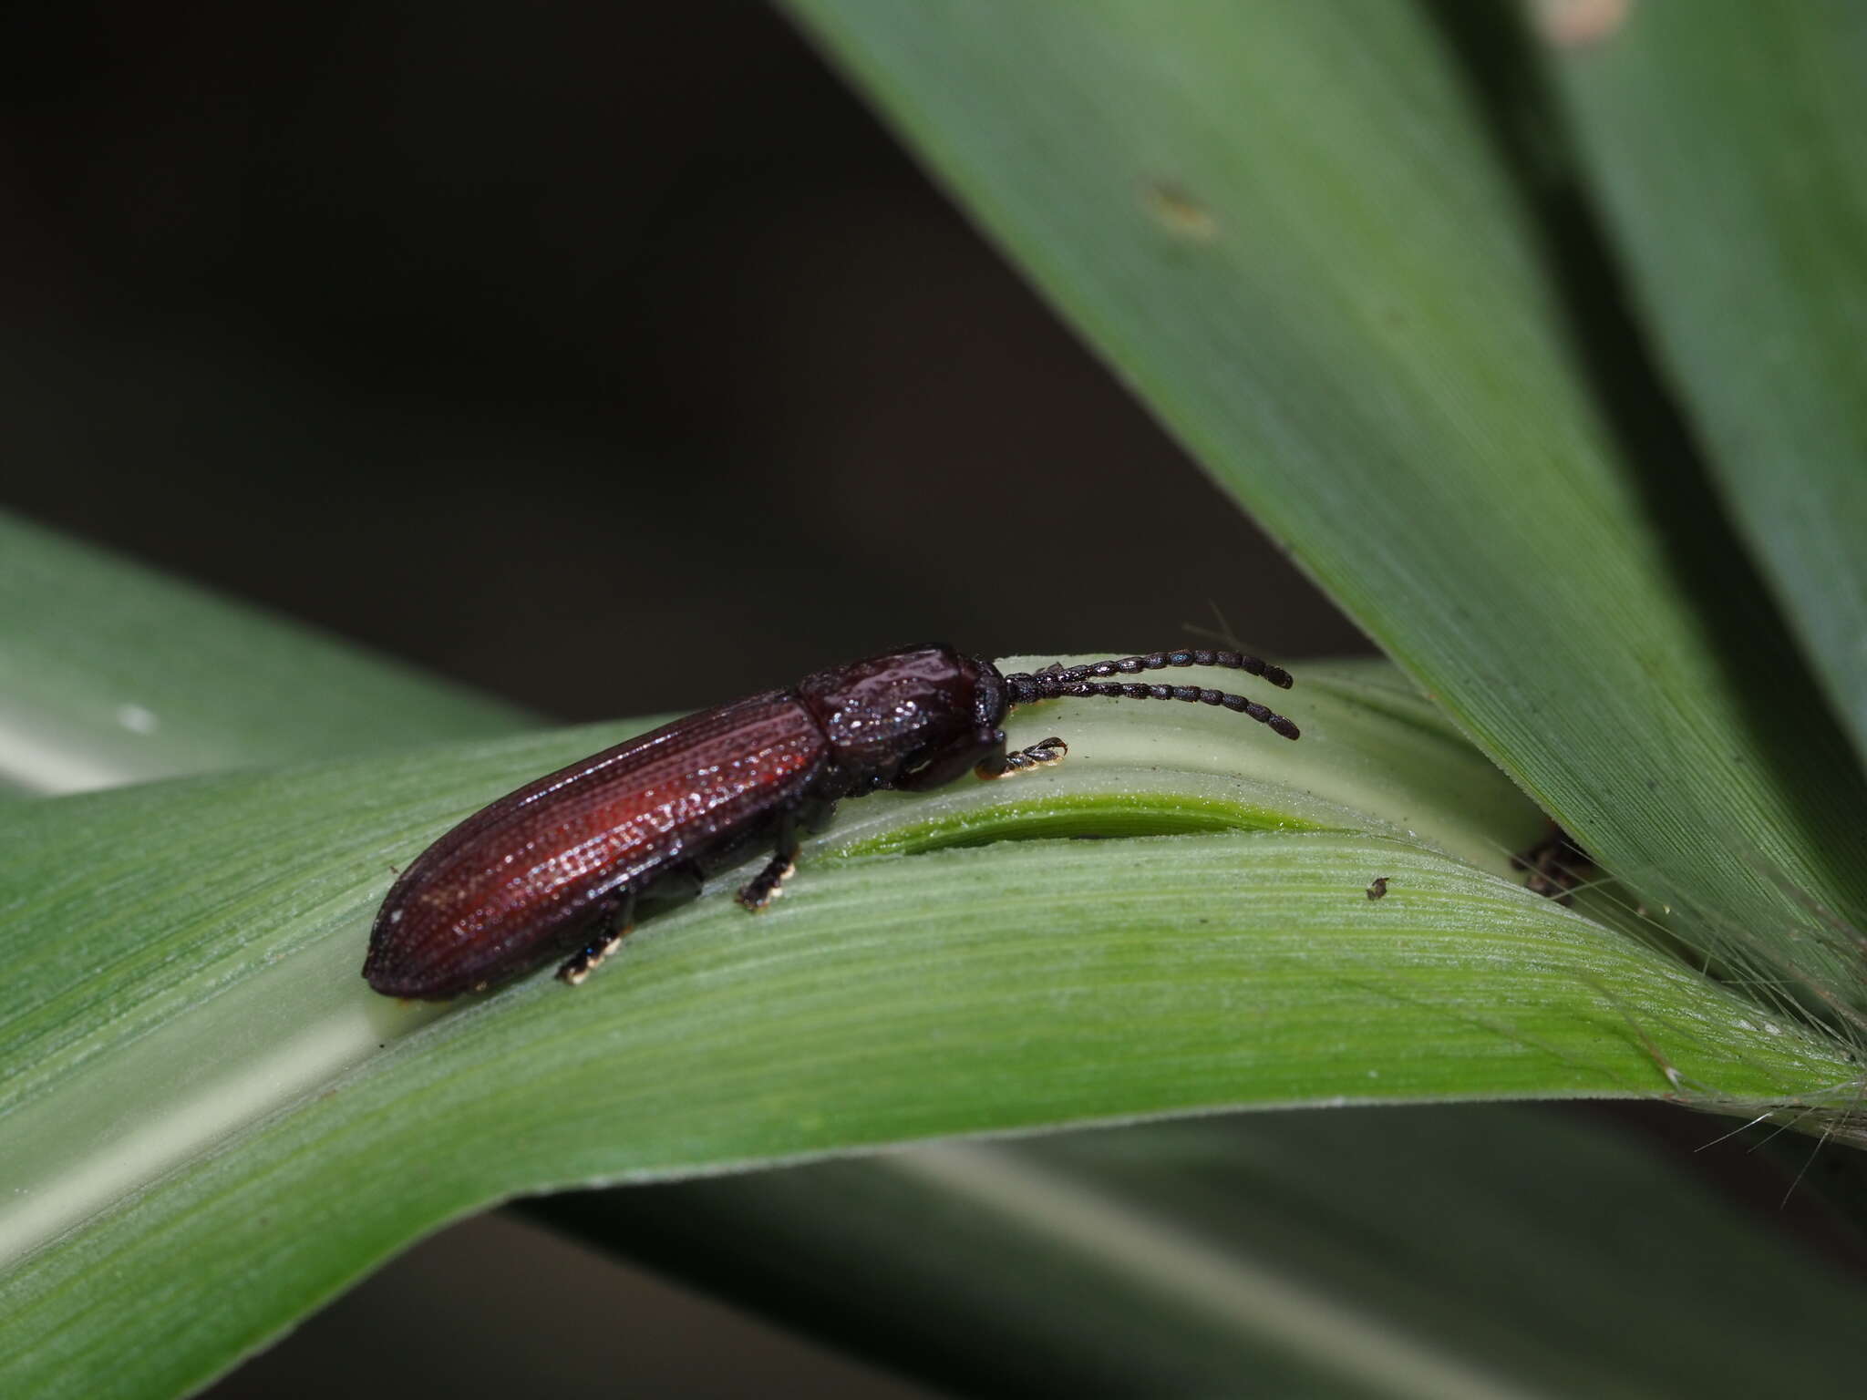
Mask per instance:
[[[1425,7],[790,7],[1589,851],[1867,1006],[1860,767],[1690,463],[1635,465],[1593,396]]]

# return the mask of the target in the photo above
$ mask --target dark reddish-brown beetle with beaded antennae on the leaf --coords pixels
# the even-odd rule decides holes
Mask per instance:
[[[1225,666],[1288,687],[1238,651],[1154,651],[1003,676],[945,646],[913,646],[702,709],[605,749],[474,812],[388,890],[362,974],[392,997],[441,1001],[547,958],[583,982],[629,931],[635,905],[698,890],[758,846],[771,861],[739,903],[771,903],[803,829],[838,797],[924,790],[967,769],[1003,778],[1064,756],[1062,739],[1004,750],[1006,711],[1060,696],[1193,700],[1298,728],[1242,694],[1197,685],[1103,683],[1163,666]]]

